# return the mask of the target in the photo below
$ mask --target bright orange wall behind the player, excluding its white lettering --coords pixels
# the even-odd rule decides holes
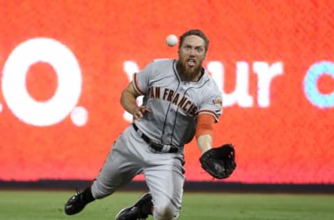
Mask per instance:
[[[315,84],[304,84],[312,65],[334,62],[333,8],[329,0],[1,1],[1,75],[22,43],[61,42],[79,63],[82,84],[75,106],[84,107],[88,119],[74,125],[69,111],[52,125],[26,123],[8,104],[2,77],[0,180],[95,178],[129,125],[119,103],[129,83],[125,62],[142,69],[154,58],[177,58],[177,47],[166,46],[166,36],[198,28],[210,39],[205,67],[214,61],[223,65],[224,81],[218,84],[225,93],[237,86],[237,63],[248,67],[253,104],[225,106],[215,125],[214,145],[232,142],[237,150],[237,170],[223,181],[333,184],[334,72],[325,68]],[[282,68],[271,81],[266,107],[259,104],[256,62]],[[50,63],[35,62],[26,71],[26,89],[36,102],[51,99],[57,85]],[[329,97],[326,107],[308,99],[308,86],[324,95],[320,100]],[[212,180],[199,156],[192,141],[186,146],[187,180]]]

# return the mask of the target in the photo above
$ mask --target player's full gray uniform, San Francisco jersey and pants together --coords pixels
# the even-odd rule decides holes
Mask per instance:
[[[207,72],[198,81],[182,81],[176,64],[172,59],[156,60],[134,74],[134,89],[144,95],[143,105],[152,112],[122,132],[91,187],[94,198],[104,198],[143,173],[155,220],[161,219],[163,210],[170,210],[175,219],[179,215],[185,178],[183,147],[193,139],[197,116],[207,113],[218,121],[222,111],[221,92]],[[159,152],[148,139],[179,150]]]

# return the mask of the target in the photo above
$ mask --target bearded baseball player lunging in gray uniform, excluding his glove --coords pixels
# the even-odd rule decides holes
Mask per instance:
[[[134,122],[113,144],[93,184],[65,205],[76,214],[95,199],[113,194],[143,173],[149,193],[116,219],[177,219],[184,184],[184,145],[194,136],[202,153],[212,148],[212,130],[222,111],[222,96],[202,67],[209,40],[192,29],[180,36],[177,60],[155,60],[122,91],[120,103]],[[136,97],[144,95],[143,105]]]

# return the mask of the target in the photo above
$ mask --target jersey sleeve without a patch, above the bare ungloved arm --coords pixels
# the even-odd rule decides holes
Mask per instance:
[[[152,77],[152,69],[153,63],[150,63],[144,68],[144,70],[134,73],[132,85],[138,94],[145,95],[147,92],[150,84],[150,77]]]

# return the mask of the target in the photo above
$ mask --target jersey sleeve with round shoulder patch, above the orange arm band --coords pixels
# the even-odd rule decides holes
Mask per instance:
[[[209,114],[214,117],[215,122],[223,112],[223,97],[220,92],[207,95],[205,100],[200,105],[198,116],[201,114]]]

